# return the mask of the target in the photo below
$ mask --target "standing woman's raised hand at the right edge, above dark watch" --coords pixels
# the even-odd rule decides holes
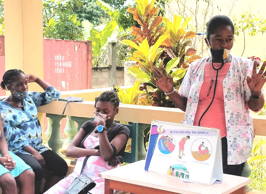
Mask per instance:
[[[266,71],[264,72],[265,66],[266,61],[263,62],[259,72],[257,73],[257,61],[254,61],[252,76],[251,78],[249,76],[246,77],[246,82],[252,95],[259,96],[261,94],[262,86],[266,82]]]

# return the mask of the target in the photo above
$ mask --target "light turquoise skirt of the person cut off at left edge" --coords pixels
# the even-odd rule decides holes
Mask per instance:
[[[0,132],[1,134],[1,132]],[[0,177],[3,174],[10,173],[13,177],[18,177],[22,172],[24,172],[27,169],[31,169],[29,165],[27,165],[20,157],[13,154],[9,151],[9,155],[12,157],[13,161],[16,161],[16,166],[13,170],[9,171],[6,167],[4,167],[2,164],[0,164]],[[0,154],[0,157],[2,155]],[[32,169],[31,169],[32,170]]]

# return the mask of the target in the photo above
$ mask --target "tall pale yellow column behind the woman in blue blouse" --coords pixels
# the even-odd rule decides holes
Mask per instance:
[[[4,21],[6,70],[21,69],[43,79],[42,0],[4,0]],[[29,90],[43,91],[36,83]],[[43,128],[44,114],[38,117]]]

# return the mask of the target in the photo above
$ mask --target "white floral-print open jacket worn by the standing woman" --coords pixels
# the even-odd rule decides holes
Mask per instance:
[[[208,58],[192,62],[180,86],[179,94],[188,99],[184,124],[193,125]],[[246,76],[251,77],[252,67],[252,60],[232,55],[231,65],[223,80],[228,164],[245,162],[253,145],[253,121],[247,103],[251,93],[246,83]]]

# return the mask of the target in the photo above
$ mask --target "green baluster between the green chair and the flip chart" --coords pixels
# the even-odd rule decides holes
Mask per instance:
[[[144,130],[150,127],[150,124],[138,123],[138,160],[145,160],[146,150],[144,147]]]

